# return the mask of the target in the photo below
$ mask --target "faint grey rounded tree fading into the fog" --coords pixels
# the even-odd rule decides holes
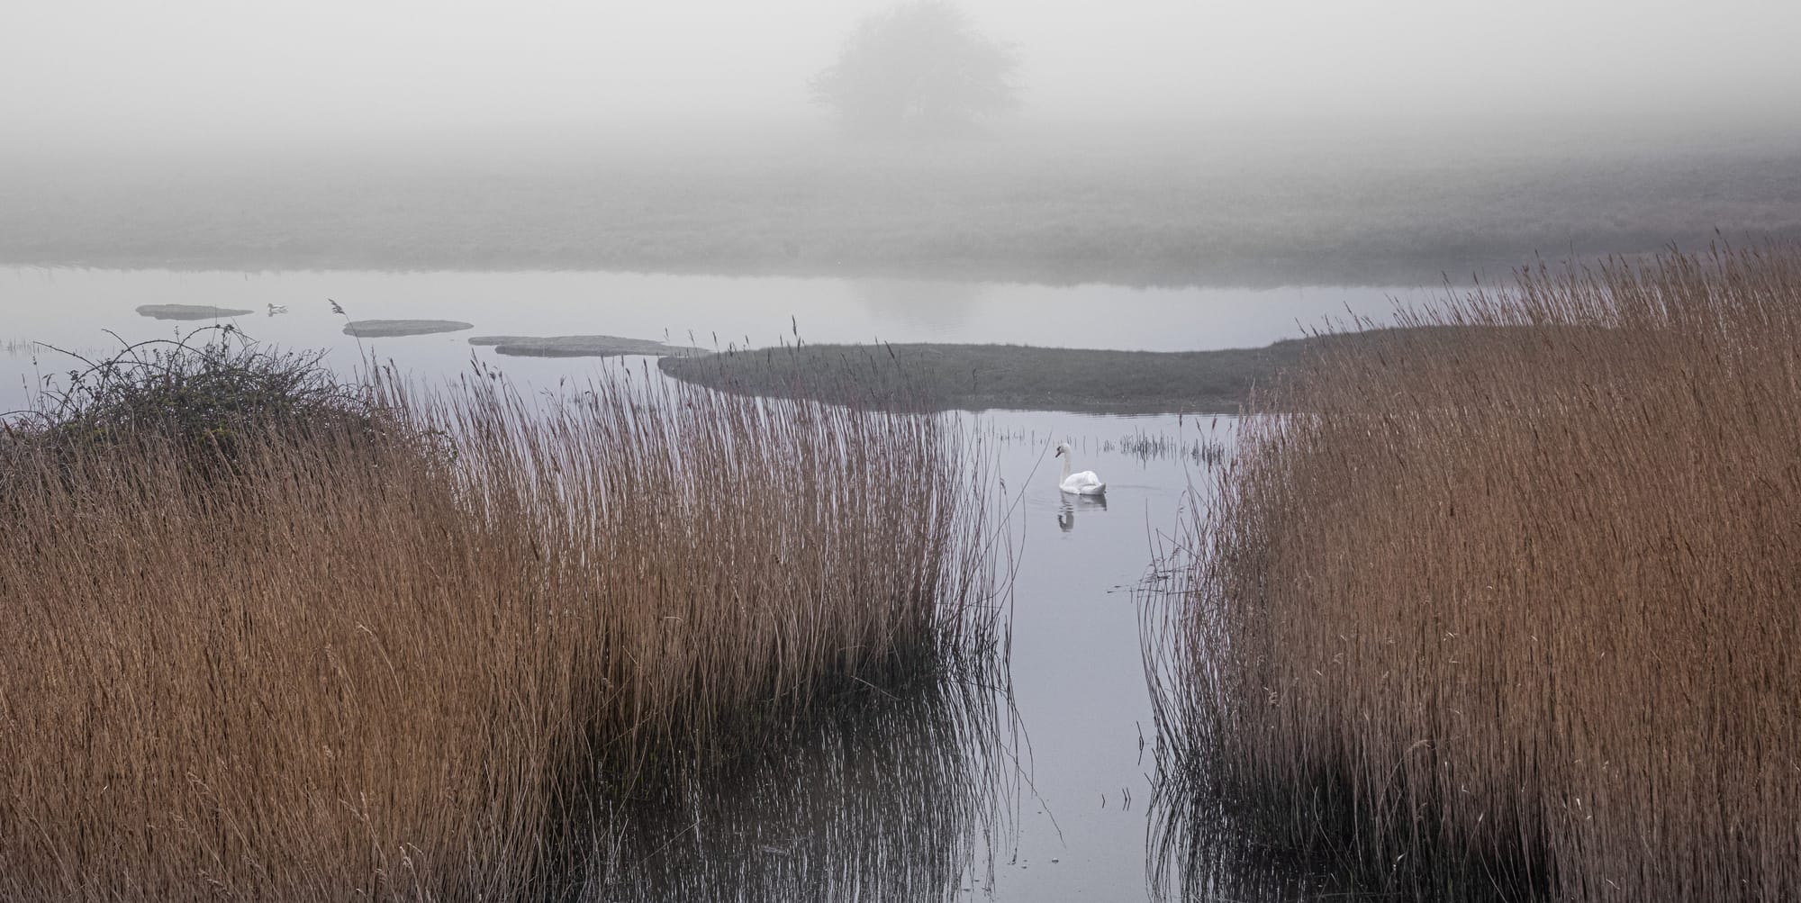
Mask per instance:
[[[967,135],[1019,106],[1018,65],[956,4],[913,0],[857,23],[810,86],[850,135]]]

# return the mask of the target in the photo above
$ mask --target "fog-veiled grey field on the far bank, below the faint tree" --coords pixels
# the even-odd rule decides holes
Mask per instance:
[[[1801,237],[1796,185],[1801,156],[1783,142],[1439,146],[1333,130],[924,146],[677,135],[493,160],[434,146],[104,173],[16,160],[0,174],[0,263],[1435,284],[1534,254],[1700,246],[1715,230]]]

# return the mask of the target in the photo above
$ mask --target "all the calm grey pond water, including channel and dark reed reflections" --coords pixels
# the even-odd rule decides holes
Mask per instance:
[[[353,371],[351,318],[443,318],[461,333],[364,340],[425,381],[470,356],[549,387],[647,358],[501,358],[477,335],[616,335],[702,347],[792,342],[1001,342],[1189,351],[1264,345],[1347,313],[1378,322],[1394,288],[1133,290],[906,281],[724,279],[632,273],[175,273],[0,272],[0,410],[76,365],[29,342],[106,354],[198,322],[144,304],[252,309],[263,342],[324,347]],[[286,306],[270,315],[268,304]],[[106,331],[117,335],[110,336]],[[692,335],[692,338],[690,338]],[[717,336],[717,338],[715,338]],[[656,372],[654,363],[648,365]],[[798,738],[740,786],[713,788],[697,820],[638,844],[636,892],[670,899],[1144,899],[1153,718],[1131,588],[1154,534],[1174,527],[1228,417],[985,412],[998,477],[1018,498],[1012,709],[897,703]],[[1057,491],[1050,446],[1108,482],[1104,502]],[[634,845],[634,849],[638,847]],[[751,885],[760,885],[753,890]]]

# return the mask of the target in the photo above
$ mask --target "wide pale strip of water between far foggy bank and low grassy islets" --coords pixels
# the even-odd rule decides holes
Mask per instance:
[[[996,342],[1122,351],[1203,351],[1266,345],[1326,318],[1387,318],[1407,288],[1187,288],[1025,286],[931,281],[731,279],[594,272],[387,273],[387,272],[164,272],[0,270],[0,410],[20,407],[20,374],[31,367],[7,344],[50,342],[79,351],[166,338],[178,327],[151,320],[142,304],[252,309],[232,320],[281,345],[330,347],[348,369],[358,347],[340,333],[335,299],[349,317],[438,318],[474,324],[466,333],[366,342],[403,371],[456,372],[474,335],[614,335],[701,347],[794,342]],[[267,306],[288,313],[268,317]],[[492,351],[479,351],[492,356]],[[45,371],[67,369],[54,354]],[[582,365],[511,360],[531,381]]]

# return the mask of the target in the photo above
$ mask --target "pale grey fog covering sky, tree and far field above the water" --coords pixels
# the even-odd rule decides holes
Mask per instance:
[[[1765,0],[20,4],[0,263],[1374,286],[1790,239],[1797,34]]]

